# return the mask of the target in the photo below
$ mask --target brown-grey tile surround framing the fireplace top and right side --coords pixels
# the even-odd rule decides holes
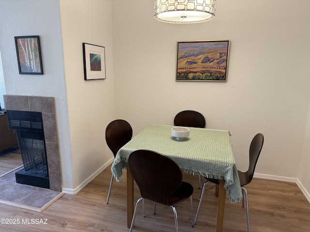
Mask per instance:
[[[3,95],[3,99],[6,110],[42,113],[50,189],[62,191],[61,163],[54,97],[6,94]]]

